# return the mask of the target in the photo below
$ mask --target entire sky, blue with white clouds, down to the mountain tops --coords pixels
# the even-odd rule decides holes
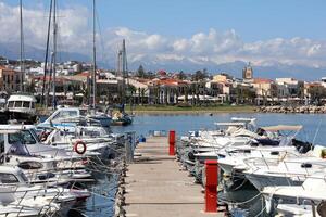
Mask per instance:
[[[196,67],[251,62],[326,67],[326,0],[96,0],[99,53]],[[50,0],[23,0],[25,44],[43,49]],[[92,0],[58,0],[64,51],[91,54]],[[18,0],[0,0],[0,43],[18,41]],[[16,26],[17,28],[14,28]]]

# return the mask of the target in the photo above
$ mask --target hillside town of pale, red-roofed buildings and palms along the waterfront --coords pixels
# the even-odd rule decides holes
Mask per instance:
[[[23,74],[18,61],[0,58],[0,89],[2,98],[12,92],[26,91],[39,100],[45,84],[45,63],[25,60]],[[58,104],[88,104],[92,82],[92,65],[68,61],[57,64],[55,98]],[[164,104],[164,105],[323,105],[326,100],[326,77],[316,81],[296,78],[258,78],[249,63],[243,66],[242,78],[233,72],[193,73],[147,72],[142,65],[136,72],[97,69],[96,89],[99,104]],[[23,82],[22,82],[23,80]],[[46,81],[46,82],[45,82]],[[23,87],[22,87],[23,86]]]

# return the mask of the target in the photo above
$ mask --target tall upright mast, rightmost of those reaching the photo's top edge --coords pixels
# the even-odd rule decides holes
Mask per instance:
[[[96,107],[97,95],[97,50],[96,50],[96,0],[92,0],[92,108]]]

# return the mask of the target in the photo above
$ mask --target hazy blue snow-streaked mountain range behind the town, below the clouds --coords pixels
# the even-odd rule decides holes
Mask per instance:
[[[17,43],[0,43],[0,55],[11,60],[17,60],[20,56],[20,46]],[[45,60],[45,49],[35,48],[32,46],[25,46],[26,59],[33,59],[38,61]],[[59,61],[83,61],[90,62],[91,58],[77,53],[77,52],[59,52]],[[115,58],[109,61],[99,61],[100,67],[114,68],[116,64]],[[221,72],[228,73],[235,77],[242,76],[242,68],[247,65],[243,61],[235,61],[229,63],[216,64],[214,62],[195,62],[190,59],[183,60],[160,60],[155,56],[143,55],[141,60],[129,61],[128,68],[130,71],[137,71],[139,65],[142,65],[146,71],[159,71],[164,69],[167,72],[193,73],[198,69],[206,68],[210,74],[217,74]],[[271,63],[268,66],[253,65],[253,76],[275,79],[277,77],[293,77],[301,80],[319,80],[321,77],[326,76],[326,67],[313,67],[304,65],[287,65],[281,63]]]

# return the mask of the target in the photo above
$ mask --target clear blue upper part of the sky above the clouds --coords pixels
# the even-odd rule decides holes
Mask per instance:
[[[15,5],[18,0],[4,0]],[[49,0],[25,0],[33,8]],[[91,0],[59,0],[61,7]],[[235,29],[244,41],[276,37],[326,38],[325,0],[97,0],[103,28],[124,26],[189,37],[210,28]]]

